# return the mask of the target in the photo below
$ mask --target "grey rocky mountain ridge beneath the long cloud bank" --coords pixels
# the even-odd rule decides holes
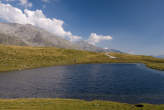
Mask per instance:
[[[86,41],[70,42],[44,29],[30,24],[0,23],[0,44],[19,46],[49,46],[57,48],[87,50],[94,52],[115,51],[88,44]]]

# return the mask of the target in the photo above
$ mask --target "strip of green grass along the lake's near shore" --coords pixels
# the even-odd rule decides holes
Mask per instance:
[[[109,101],[82,101],[71,99],[3,99],[0,110],[164,110],[164,105],[135,105]]]

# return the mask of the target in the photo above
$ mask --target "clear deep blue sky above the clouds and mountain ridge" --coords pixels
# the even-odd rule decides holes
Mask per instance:
[[[46,18],[62,20],[65,31],[84,40],[91,33],[105,36],[94,43],[100,47],[134,54],[164,54],[164,0],[1,1],[22,11],[39,9]]]

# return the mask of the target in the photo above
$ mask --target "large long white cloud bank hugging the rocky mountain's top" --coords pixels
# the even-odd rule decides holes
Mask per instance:
[[[0,3],[0,19],[12,23],[32,24],[49,31],[56,36],[64,37],[71,41],[81,39],[80,36],[74,36],[71,32],[64,30],[64,21],[55,18],[47,18],[41,10],[31,11],[25,9],[24,12],[22,12],[20,9],[13,7],[10,4]]]

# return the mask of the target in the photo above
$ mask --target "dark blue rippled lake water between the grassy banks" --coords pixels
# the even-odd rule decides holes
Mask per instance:
[[[4,72],[0,98],[164,104],[164,71],[143,64],[80,64]]]

